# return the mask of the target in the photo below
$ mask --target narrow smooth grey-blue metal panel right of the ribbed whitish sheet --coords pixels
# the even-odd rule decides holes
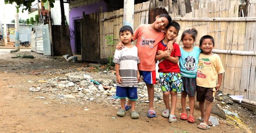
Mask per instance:
[[[49,24],[43,25],[43,43],[44,43],[44,55],[51,56],[51,42]]]

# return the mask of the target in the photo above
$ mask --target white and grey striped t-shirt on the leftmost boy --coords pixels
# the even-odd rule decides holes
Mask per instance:
[[[117,83],[117,86],[137,87],[138,63],[140,63],[137,47],[116,50],[113,62],[119,64],[119,75],[122,77],[122,83]]]

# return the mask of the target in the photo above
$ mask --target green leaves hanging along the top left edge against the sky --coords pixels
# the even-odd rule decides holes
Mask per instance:
[[[24,12],[24,10],[28,10],[30,12],[31,6],[33,2],[35,2],[36,0],[4,0],[5,4],[12,4],[12,3],[16,3],[17,4],[17,11],[19,12],[19,8],[22,7],[22,13]],[[54,5],[53,3],[55,3],[55,0],[42,0],[42,2],[46,2],[48,1],[50,4],[50,7],[53,8]]]

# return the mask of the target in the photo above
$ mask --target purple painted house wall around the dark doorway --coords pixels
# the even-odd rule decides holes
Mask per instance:
[[[79,6],[76,8],[72,8],[71,11],[69,12],[70,44],[71,44],[73,53],[75,53],[74,20],[82,19],[83,12],[85,12],[85,14],[92,14],[92,13],[99,11],[100,8],[102,8],[102,12],[106,12],[107,11],[106,3],[103,1],[100,1],[97,3],[90,4],[90,5]]]

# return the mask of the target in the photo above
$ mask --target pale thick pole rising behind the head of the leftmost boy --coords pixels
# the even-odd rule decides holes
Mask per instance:
[[[134,22],[134,0],[124,0],[123,25],[129,25],[133,29]]]

